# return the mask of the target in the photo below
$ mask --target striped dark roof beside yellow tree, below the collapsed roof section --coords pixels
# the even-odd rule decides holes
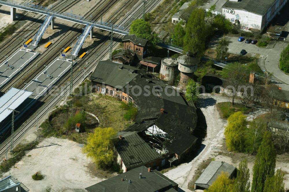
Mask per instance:
[[[114,146],[126,168],[145,165],[162,158],[137,133],[123,136]]]

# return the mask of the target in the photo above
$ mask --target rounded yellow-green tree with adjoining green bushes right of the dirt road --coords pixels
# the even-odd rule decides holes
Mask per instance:
[[[268,113],[266,119],[247,121],[242,112],[236,112],[228,118],[225,127],[226,144],[229,151],[256,153],[265,131],[273,135],[275,147],[281,151],[288,150],[289,128],[275,130],[272,124],[278,119],[276,110]],[[281,116],[279,114],[279,116]]]

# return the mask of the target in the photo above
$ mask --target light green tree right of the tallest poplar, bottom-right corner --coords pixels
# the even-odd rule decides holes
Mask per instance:
[[[274,192],[284,192],[284,173],[281,169],[278,169],[276,174],[268,178],[265,182],[264,192],[265,191],[274,191]]]

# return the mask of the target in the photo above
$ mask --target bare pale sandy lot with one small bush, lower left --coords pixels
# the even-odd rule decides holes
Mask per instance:
[[[31,192],[86,191],[85,187],[102,181],[92,176],[88,165],[90,159],[81,152],[76,142],[58,138],[46,138],[36,148],[29,151],[2,178],[12,175],[22,182]],[[31,156],[30,156],[31,155]],[[32,174],[41,171],[44,180],[34,181]]]

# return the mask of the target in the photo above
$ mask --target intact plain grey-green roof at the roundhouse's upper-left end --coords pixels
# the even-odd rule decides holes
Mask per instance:
[[[122,67],[122,69],[120,67]],[[131,69],[136,71],[136,73],[131,73],[129,71]],[[100,83],[103,82],[104,84],[120,89],[138,75],[138,70],[140,69],[112,61],[99,61],[90,80]]]

